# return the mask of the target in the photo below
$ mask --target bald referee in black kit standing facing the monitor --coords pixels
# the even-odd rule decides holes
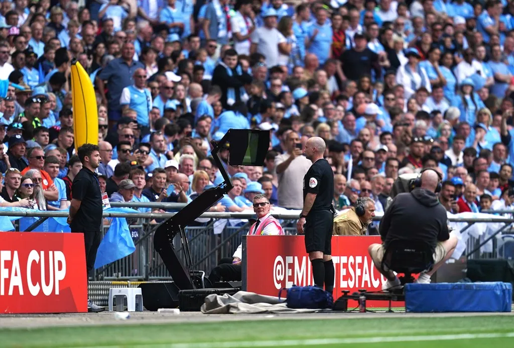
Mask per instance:
[[[312,137],[305,144],[305,156],[313,162],[303,178],[303,210],[298,220],[298,233],[305,233],[305,249],[313,268],[314,284],[332,294],[334,263],[332,262],[332,229],[334,214],[334,172],[323,158],[325,140]]]

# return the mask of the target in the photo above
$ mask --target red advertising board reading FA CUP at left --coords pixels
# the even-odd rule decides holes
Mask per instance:
[[[0,313],[87,312],[82,233],[0,233]]]

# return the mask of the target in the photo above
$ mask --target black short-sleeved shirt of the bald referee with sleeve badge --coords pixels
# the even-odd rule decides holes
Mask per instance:
[[[330,210],[334,198],[334,171],[324,158],[318,159],[310,166],[303,177],[303,200],[307,193],[316,193],[313,207],[309,214],[319,210]]]

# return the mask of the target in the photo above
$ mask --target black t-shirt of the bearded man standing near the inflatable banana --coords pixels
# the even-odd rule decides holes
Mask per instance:
[[[102,225],[102,193],[95,173],[82,168],[73,180],[71,194],[81,201],[79,211],[71,221],[71,231],[100,230]]]

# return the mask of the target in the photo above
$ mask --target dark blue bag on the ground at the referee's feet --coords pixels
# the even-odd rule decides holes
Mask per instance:
[[[282,290],[287,291],[286,303],[289,308],[324,309],[332,308],[334,298],[332,294],[317,286],[296,286],[280,289],[279,300]]]

